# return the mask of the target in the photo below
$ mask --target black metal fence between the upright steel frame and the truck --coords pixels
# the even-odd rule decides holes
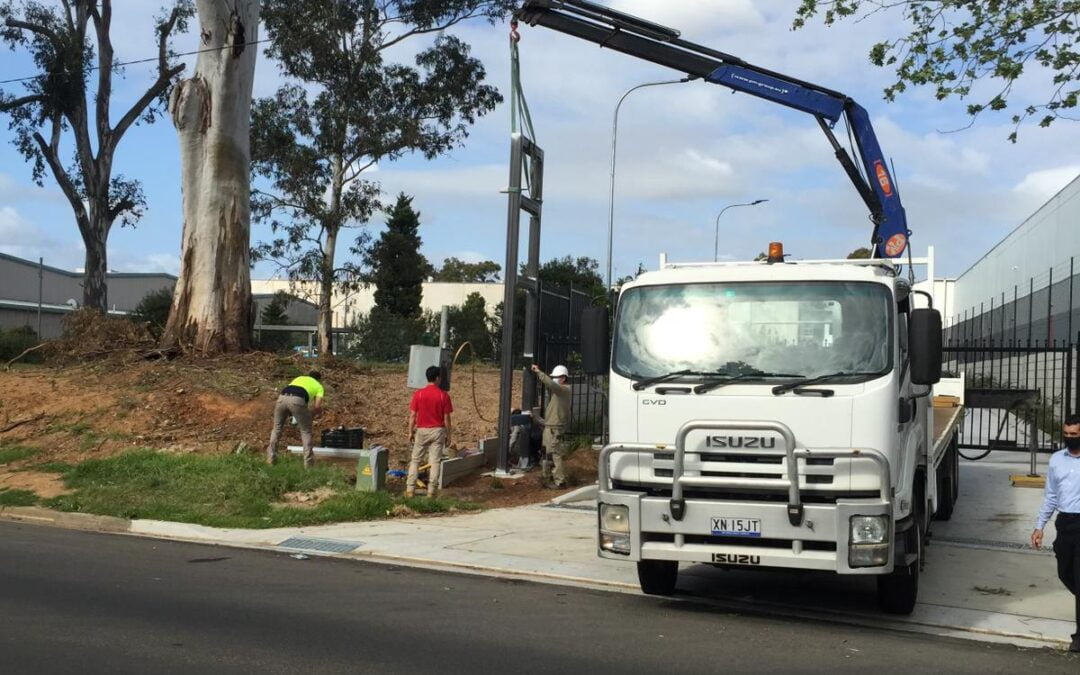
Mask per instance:
[[[549,372],[556,365],[570,370],[570,435],[592,442],[604,434],[606,414],[603,382],[581,369],[581,313],[592,303],[589,294],[542,284],[537,336],[537,363]],[[537,401],[546,403],[545,392]]]

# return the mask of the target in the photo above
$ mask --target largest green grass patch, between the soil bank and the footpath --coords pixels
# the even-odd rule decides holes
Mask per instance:
[[[46,505],[124,518],[197,523],[214,527],[288,527],[391,515],[405,504],[418,513],[474,509],[447,499],[404,500],[387,492],[359,492],[337,467],[305,470],[299,458],[268,467],[244,455],[166,455],[136,450],[82,462],[64,474],[70,495]],[[328,487],[334,496],[312,508],[282,507],[285,492]]]

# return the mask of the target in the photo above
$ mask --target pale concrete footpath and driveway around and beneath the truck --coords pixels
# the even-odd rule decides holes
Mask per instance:
[[[1044,463],[1042,464],[1044,467]],[[1056,579],[1052,553],[1026,546],[1042,490],[1013,488],[1017,454],[961,464],[953,519],[935,523],[920,603],[910,617],[875,609],[875,583],[808,572],[718,570],[685,565],[684,597],[725,608],[935,635],[1064,648],[1074,631],[1072,598]],[[219,529],[159,521],[0,510],[0,516],[86,529],[299,555],[334,555],[637,593],[634,565],[596,556],[595,502],[529,505],[475,514],[267,530]],[[80,518],[91,518],[80,525]],[[50,523],[50,521],[53,521]],[[1047,540],[1053,540],[1048,529]]]

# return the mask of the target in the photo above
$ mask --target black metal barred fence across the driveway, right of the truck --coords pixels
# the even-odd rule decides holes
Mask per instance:
[[[1062,421],[1080,406],[1077,341],[951,339],[943,349],[948,376],[964,376],[967,413],[960,447],[1051,451]]]

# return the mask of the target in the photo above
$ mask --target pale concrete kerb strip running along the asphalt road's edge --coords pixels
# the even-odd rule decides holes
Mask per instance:
[[[63,513],[36,507],[8,507],[0,509],[0,519],[87,531],[146,537],[150,539],[272,551],[286,554],[299,551],[282,548],[280,545],[286,538],[286,535],[282,530],[222,531],[217,528],[185,523],[171,523],[164,521],[127,521],[124,518],[98,516],[84,513]],[[288,531],[295,532],[296,528],[291,528]],[[635,595],[639,594],[637,584],[620,582],[611,579],[593,579],[580,576],[561,575],[528,569],[514,569],[460,561],[440,561],[409,555],[394,555],[378,551],[323,553],[305,549],[300,552],[311,557],[354,559],[382,565],[400,565],[403,567],[531,581],[553,585],[570,585],[595,591],[630,593]],[[936,611],[923,612],[920,611],[920,608],[924,609],[932,606],[922,604],[917,607],[916,613],[910,618],[889,618],[863,612],[809,609],[806,607],[784,605],[781,603],[761,599],[745,602],[724,596],[708,597],[691,594],[677,594],[670,599],[675,602],[705,604],[725,611],[734,611],[739,613],[786,617],[800,620],[829,621],[833,623],[873,627],[878,630],[902,631],[942,637],[1012,644],[1017,647],[1025,648],[1050,647],[1063,649],[1068,646],[1068,640],[1065,639],[1053,637],[1032,637],[1030,632],[1021,633],[1010,630],[1012,623],[1016,623],[1021,626],[1030,626],[1032,621],[1039,622],[1040,620],[1038,619],[1020,616],[996,615],[994,612],[978,612],[959,608],[944,608],[946,609],[944,612],[940,611],[942,608],[935,608]],[[919,615],[923,616],[920,617]],[[997,624],[998,627],[982,627],[978,624]]]

